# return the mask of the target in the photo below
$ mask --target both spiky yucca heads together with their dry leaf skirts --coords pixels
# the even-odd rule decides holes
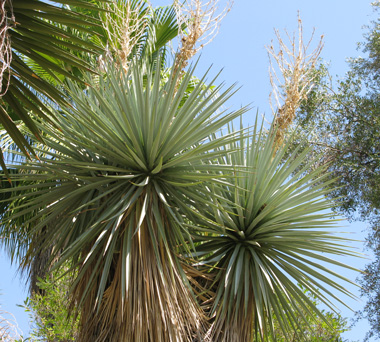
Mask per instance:
[[[327,305],[349,294],[325,266],[352,253],[326,231],[321,170],[293,175],[307,151],[283,163],[273,131],[216,133],[245,109],[220,111],[232,88],[205,78],[188,92],[192,70],[176,90],[178,74],[149,64],[107,68],[97,87],[71,85],[71,105],[38,124],[38,158],[1,190],[24,266],[49,250],[78,268],[81,340],[266,339],[273,316],[287,331],[313,307],[297,283]]]

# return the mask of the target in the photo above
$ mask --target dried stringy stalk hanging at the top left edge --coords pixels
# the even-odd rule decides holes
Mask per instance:
[[[15,22],[15,18],[12,11],[12,2],[9,0],[0,2],[0,96],[3,96],[8,90],[11,76],[12,48],[8,30],[12,27],[10,22]],[[6,4],[9,5],[10,18],[5,8]],[[8,78],[5,87],[3,87],[4,77]]]

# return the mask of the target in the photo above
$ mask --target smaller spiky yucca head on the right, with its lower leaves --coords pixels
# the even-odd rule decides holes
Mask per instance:
[[[283,161],[288,145],[275,153],[274,136],[273,128],[265,133],[255,127],[253,138],[242,136],[226,147],[232,152],[219,163],[246,169],[227,180],[234,187],[214,186],[219,198],[203,212],[207,233],[200,234],[196,248],[200,265],[215,267],[211,315],[218,341],[266,340],[268,331],[273,334],[273,317],[286,335],[297,325],[294,312],[303,317],[314,309],[297,284],[330,307],[331,299],[345,305],[337,292],[351,296],[340,284],[351,281],[330,268],[353,269],[334,256],[356,255],[348,240],[332,233],[331,203],[325,198],[331,181],[310,164],[295,172],[308,151],[295,151]]]

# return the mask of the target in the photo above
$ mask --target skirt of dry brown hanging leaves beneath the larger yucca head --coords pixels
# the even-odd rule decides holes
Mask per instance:
[[[96,290],[101,279],[92,280],[91,274],[102,255],[95,258],[75,288],[78,301],[85,298],[79,341],[186,342],[201,340],[204,335],[202,312],[184,283],[175,252],[160,241],[156,218],[150,214],[139,225],[140,215],[132,210],[120,225],[117,252],[99,306]],[[158,219],[170,229],[165,213],[161,210],[160,214]],[[97,285],[86,296],[87,282],[91,281]]]

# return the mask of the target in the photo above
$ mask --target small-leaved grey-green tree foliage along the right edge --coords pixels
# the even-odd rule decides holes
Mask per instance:
[[[372,4],[378,15],[380,3]],[[367,304],[358,317],[372,327],[369,337],[380,337],[380,19],[367,27],[359,48],[366,57],[349,60],[349,71],[338,81],[324,64],[316,71],[315,86],[303,101],[295,120],[308,136],[314,153],[328,163],[330,177],[340,187],[335,210],[350,220],[369,223],[367,246],[375,260],[360,283]]]

